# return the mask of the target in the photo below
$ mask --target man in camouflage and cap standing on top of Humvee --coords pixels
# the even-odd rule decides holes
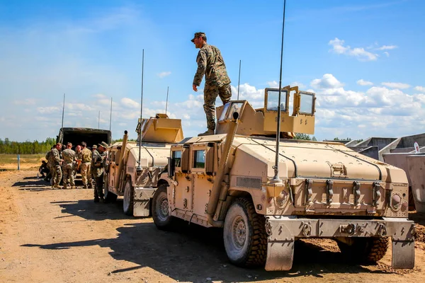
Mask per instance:
[[[191,40],[199,48],[198,70],[193,79],[193,91],[198,91],[198,86],[205,74],[204,110],[207,116],[208,130],[198,136],[214,134],[215,131],[215,99],[220,96],[223,105],[232,97],[230,79],[227,76],[225,61],[217,47],[208,45],[205,33],[195,33]]]

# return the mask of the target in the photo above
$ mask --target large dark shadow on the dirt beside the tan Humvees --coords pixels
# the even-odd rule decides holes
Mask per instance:
[[[62,212],[84,219],[126,219],[122,202],[94,204],[92,201],[52,202],[60,205]],[[175,280],[183,282],[205,282],[207,278],[222,282],[246,282],[285,277],[324,277],[327,273],[388,273],[371,271],[367,267],[344,263],[341,253],[324,250],[312,243],[295,243],[295,260],[288,272],[266,272],[262,268],[249,270],[229,263],[222,243],[221,229],[205,229],[201,226],[181,224],[176,231],[160,231],[153,223],[124,224],[117,229],[117,238],[98,238],[38,245],[28,243],[26,247],[48,250],[63,250],[74,247],[100,246],[111,248],[115,260],[134,262],[136,267],[105,270],[120,273],[150,267]],[[112,267],[113,265],[111,265]]]

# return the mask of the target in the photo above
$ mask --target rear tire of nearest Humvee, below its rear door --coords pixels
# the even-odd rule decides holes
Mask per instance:
[[[172,229],[174,221],[176,221],[174,216],[170,215],[166,187],[166,184],[159,185],[152,198],[152,219],[157,228],[161,230]]]

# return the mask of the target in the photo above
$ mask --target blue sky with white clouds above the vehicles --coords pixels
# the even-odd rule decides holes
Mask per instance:
[[[425,128],[425,1],[288,0],[283,85],[317,93],[317,139],[401,137]],[[279,80],[283,1],[0,1],[0,138],[55,137],[66,127],[109,128],[140,115],[204,132],[203,93],[192,91],[203,31],[220,48],[237,96],[261,105]],[[217,100],[218,102],[219,100]],[[218,104],[218,103],[217,103]]]

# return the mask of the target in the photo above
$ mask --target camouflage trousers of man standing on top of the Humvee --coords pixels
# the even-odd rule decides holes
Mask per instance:
[[[204,111],[207,116],[208,129],[215,130],[215,99],[220,96],[223,105],[229,102],[232,97],[232,89],[230,83],[224,86],[212,86],[210,83],[205,83],[204,88]]]

